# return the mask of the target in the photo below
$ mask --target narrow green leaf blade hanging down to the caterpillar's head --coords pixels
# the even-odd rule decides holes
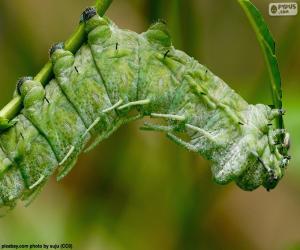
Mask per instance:
[[[275,41],[264,20],[260,11],[249,0],[238,0],[243,10],[245,11],[262,48],[264,58],[267,64],[271,90],[273,97],[273,104],[275,108],[282,108],[282,89],[281,89],[281,76],[278,66],[277,57],[275,54]],[[277,119],[279,128],[283,128],[282,116]]]

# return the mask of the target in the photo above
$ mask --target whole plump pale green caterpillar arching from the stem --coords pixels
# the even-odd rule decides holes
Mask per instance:
[[[87,42],[75,56],[62,44],[52,47],[55,77],[46,87],[31,78],[18,83],[23,109],[0,135],[2,206],[30,199],[57,168],[58,179],[63,178],[88,145],[144,116],[164,122],[146,123],[145,130],[165,132],[211,160],[217,183],[235,181],[244,190],[276,186],[289,161],[288,143],[276,145],[288,134],[271,124],[280,110],[249,105],[176,50],[163,23],[136,34],[91,8],[83,22]]]

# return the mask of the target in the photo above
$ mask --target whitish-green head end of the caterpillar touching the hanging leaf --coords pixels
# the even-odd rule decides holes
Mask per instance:
[[[249,164],[236,182],[245,190],[253,190],[263,185],[269,191],[284,176],[291,159],[288,155],[290,136],[286,130],[274,129],[270,123],[275,113],[283,114],[282,110],[270,110],[264,105],[256,105],[256,108],[259,115],[251,117],[256,125],[256,133],[251,131],[253,140],[249,144],[252,150],[248,158]]]

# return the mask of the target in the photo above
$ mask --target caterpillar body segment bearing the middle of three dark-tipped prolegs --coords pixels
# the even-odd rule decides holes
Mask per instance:
[[[117,114],[114,109],[110,109],[112,104],[90,48],[83,45],[74,56],[64,50],[63,45],[54,45],[51,61],[62,92],[87,127],[84,135],[102,134],[110,130]],[[103,110],[112,112],[106,114]]]

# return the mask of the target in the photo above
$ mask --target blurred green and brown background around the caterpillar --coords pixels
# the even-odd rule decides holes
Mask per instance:
[[[211,180],[209,162],[141,132],[120,129],[81,156],[62,181],[0,219],[0,243],[72,243],[83,250],[300,249],[300,15],[268,16],[275,40],[293,157],[268,193]],[[65,40],[92,0],[0,0],[0,106],[18,77],[34,75],[52,43]],[[271,103],[263,57],[235,0],[115,0],[107,15],[142,32],[167,21],[174,45],[251,103]]]

